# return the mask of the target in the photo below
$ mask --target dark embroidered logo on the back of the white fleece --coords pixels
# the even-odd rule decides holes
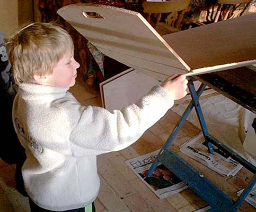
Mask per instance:
[[[43,147],[38,144],[34,139],[32,139],[31,136],[28,135],[28,133],[24,129],[23,124],[18,120],[18,118],[15,119],[15,125],[18,130],[18,135],[22,139],[27,141],[32,149],[34,149],[38,153],[42,153],[44,151]]]

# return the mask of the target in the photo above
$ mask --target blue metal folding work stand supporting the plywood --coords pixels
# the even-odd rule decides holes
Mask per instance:
[[[256,167],[251,163],[248,163],[241,156],[233,152],[230,148],[226,147],[224,144],[209,134],[199,103],[199,97],[203,93],[206,85],[202,83],[200,88],[196,91],[194,88],[194,81],[195,79],[193,77],[188,78],[188,88],[192,97],[192,101],[185,109],[184,114],[180,118],[173,132],[170,134],[168,140],[159,151],[159,154],[157,155],[155,162],[151,165],[147,176],[150,177],[152,175],[158,163],[160,162],[164,164],[170,171],[172,171],[178,178],[187,183],[189,188],[194,190],[198,196],[200,196],[206,203],[208,203],[211,206],[210,212],[236,212],[249,194],[250,190],[256,184]],[[193,107],[195,108],[197,117],[203,130],[203,136],[209,152],[212,153],[214,151],[212,147],[213,144],[220,148],[223,152],[230,155],[234,160],[243,165],[246,169],[254,173],[253,179],[251,179],[243,193],[238,197],[236,201],[233,201],[221,189],[215,186],[210,180],[205,178],[202,173],[195,170],[193,166],[185,162],[184,159],[182,159],[179,155],[177,155],[177,153],[169,148],[178,131],[185,123],[185,120],[192,111]]]

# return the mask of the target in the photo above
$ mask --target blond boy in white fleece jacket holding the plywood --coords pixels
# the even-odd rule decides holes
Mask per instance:
[[[31,211],[89,211],[99,191],[96,156],[124,149],[186,95],[184,75],[153,87],[136,104],[109,112],[68,92],[79,63],[70,35],[29,24],[7,41],[19,86],[13,121],[27,159],[22,176]]]

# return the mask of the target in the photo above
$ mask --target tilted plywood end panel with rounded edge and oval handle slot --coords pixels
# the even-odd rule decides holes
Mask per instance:
[[[102,18],[90,16],[90,12]],[[59,9],[58,14],[101,52],[125,65],[163,74],[164,78],[187,72],[178,55],[140,13],[104,5],[73,4]]]

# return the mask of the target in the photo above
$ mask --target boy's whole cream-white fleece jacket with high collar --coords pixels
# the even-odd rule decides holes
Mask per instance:
[[[92,203],[99,191],[96,156],[130,146],[173,106],[160,86],[113,112],[81,106],[68,89],[22,83],[13,106],[15,129],[26,148],[26,191],[52,211]]]

